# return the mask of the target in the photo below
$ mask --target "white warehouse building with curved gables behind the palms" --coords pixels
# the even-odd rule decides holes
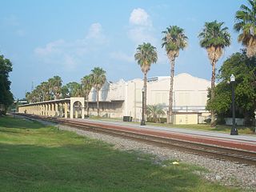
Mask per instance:
[[[142,87],[143,80],[139,78],[128,82],[122,79],[115,83],[106,82],[99,93],[101,116],[109,118],[131,116],[140,120],[142,118]],[[201,117],[208,115],[205,107],[209,87],[210,81],[206,79],[184,73],[176,75],[174,77],[174,115],[197,114],[197,117],[198,114]],[[167,111],[169,91],[170,77],[149,78],[146,93],[147,105],[161,104]],[[96,91],[92,89],[89,95],[90,114],[97,114],[96,98]]]

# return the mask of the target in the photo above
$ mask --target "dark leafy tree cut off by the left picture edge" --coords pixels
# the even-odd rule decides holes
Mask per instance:
[[[8,106],[10,106],[14,97],[10,92],[9,73],[12,71],[12,63],[8,58],[0,55],[0,112],[6,114]]]

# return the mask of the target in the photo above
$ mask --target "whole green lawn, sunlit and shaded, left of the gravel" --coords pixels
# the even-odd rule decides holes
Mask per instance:
[[[153,159],[38,122],[0,118],[0,191],[239,191],[200,178],[199,167]]]

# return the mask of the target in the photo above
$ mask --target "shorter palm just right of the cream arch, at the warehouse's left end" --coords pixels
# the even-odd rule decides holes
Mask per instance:
[[[94,69],[91,70],[91,82],[92,82],[92,85],[94,86],[94,89],[97,92],[97,114],[99,117],[99,102],[98,102],[99,90],[102,89],[102,86],[106,82],[106,71],[100,67],[94,67]]]

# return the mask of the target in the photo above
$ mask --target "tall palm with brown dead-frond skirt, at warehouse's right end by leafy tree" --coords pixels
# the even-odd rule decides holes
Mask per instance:
[[[211,93],[210,99],[214,100],[214,86],[215,86],[215,66],[218,59],[222,56],[223,50],[226,46],[230,46],[230,34],[227,27],[222,27],[224,22],[206,22],[202,32],[198,35],[200,38],[200,46],[206,49],[210,64],[212,66],[211,74]],[[215,126],[214,111],[211,110],[211,126]]]

